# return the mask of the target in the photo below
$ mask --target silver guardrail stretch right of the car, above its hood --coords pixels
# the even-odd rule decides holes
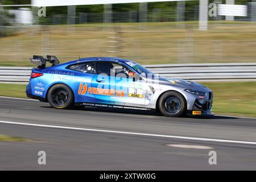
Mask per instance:
[[[163,77],[195,81],[256,80],[256,63],[145,65]]]

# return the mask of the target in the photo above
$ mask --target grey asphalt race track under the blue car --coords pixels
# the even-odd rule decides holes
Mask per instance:
[[[250,118],[57,110],[44,102],[1,97],[0,134],[31,139],[0,142],[1,170],[256,169],[256,119]],[[191,145],[196,147],[187,148]],[[46,152],[46,165],[38,164],[39,151]],[[216,165],[208,163],[209,151],[216,151]]]

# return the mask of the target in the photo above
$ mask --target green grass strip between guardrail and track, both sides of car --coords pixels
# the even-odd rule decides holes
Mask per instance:
[[[207,82],[214,92],[213,112],[256,118],[256,82]],[[0,84],[0,96],[26,98],[26,85]]]

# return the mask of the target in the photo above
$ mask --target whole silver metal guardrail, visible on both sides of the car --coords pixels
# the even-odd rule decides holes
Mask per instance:
[[[194,81],[256,81],[256,63],[144,65],[163,77]],[[0,67],[1,83],[27,84],[31,67]]]

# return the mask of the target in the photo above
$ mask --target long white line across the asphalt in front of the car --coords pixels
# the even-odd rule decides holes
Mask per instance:
[[[174,135],[159,135],[159,134],[148,134],[148,133],[134,133],[134,132],[129,132],[129,131],[85,129],[85,128],[80,128],[80,127],[39,125],[39,124],[10,122],[10,121],[0,121],[0,123],[7,123],[7,124],[13,124],[13,125],[24,125],[24,126],[48,127],[48,128],[53,128],[53,129],[68,129],[68,130],[79,130],[79,131],[96,131],[96,132],[101,132],[101,133],[138,135],[138,136],[144,136],[144,137],[176,138],[176,139],[185,139],[185,140],[198,140],[198,141],[204,141],[204,142],[221,142],[221,143],[237,143],[237,144],[253,144],[253,145],[256,145],[256,142],[247,142],[247,141],[239,141],[239,140],[196,138],[196,137],[180,137],[180,136],[174,136]]]

